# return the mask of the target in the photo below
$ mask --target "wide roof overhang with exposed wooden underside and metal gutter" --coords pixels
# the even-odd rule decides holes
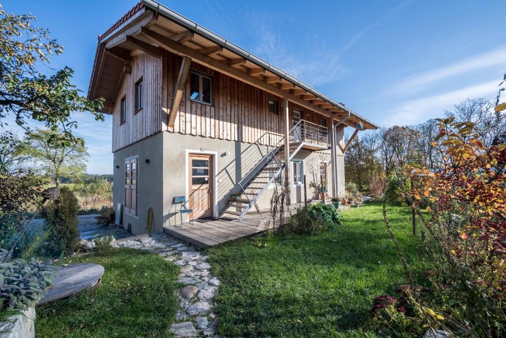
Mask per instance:
[[[152,0],[142,0],[99,36],[88,98],[105,97],[104,112],[110,114],[130,58],[140,51],[157,56],[156,48],[189,56],[356,129],[379,128],[342,103]]]

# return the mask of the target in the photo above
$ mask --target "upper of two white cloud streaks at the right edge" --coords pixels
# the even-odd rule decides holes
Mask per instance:
[[[445,67],[416,74],[413,77],[397,83],[394,88],[391,89],[391,92],[395,94],[419,92],[434,83],[457,76],[458,74],[486,67],[503,66],[505,63],[506,47],[476,55]]]

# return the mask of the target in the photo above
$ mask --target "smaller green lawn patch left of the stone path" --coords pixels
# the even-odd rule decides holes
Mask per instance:
[[[71,261],[68,261],[71,262]],[[37,308],[37,337],[165,337],[175,321],[179,269],[161,256],[107,249],[74,259],[104,266],[92,293]]]

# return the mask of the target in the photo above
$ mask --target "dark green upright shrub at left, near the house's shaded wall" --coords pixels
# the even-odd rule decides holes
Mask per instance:
[[[60,188],[60,196],[55,201],[44,207],[42,215],[46,218],[46,227],[51,229],[48,246],[53,253],[69,254],[74,251],[79,239],[78,210],[77,198],[66,186]]]

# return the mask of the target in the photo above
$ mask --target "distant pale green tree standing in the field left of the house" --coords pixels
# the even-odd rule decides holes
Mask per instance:
[[[80,138],[67,140],[64,131],[37,129],[28,133],[26,142],[29,144],[27,153],[56,186],[60,185],[62,176],[77,175],[86,169],[89,154]]]

